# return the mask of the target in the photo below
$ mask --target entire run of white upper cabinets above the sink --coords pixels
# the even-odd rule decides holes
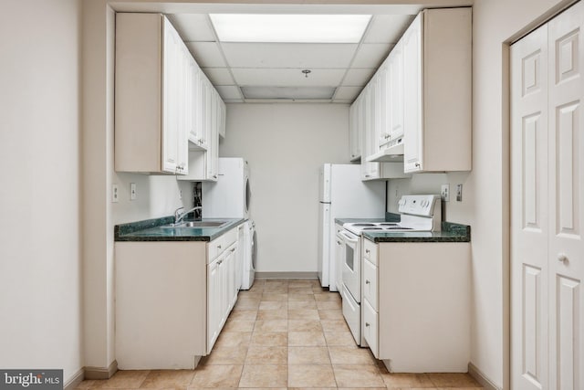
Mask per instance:
[[[115,93],[116,171],[216,180],[225,105],[166,17],[116,16]]]

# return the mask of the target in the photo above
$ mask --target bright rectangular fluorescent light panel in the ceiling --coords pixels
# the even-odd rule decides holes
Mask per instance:
[[[210,14],[222,42],[359,43],[370,15]]]

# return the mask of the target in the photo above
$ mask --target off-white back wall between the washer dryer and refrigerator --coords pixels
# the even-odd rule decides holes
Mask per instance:
[[[249,163],[257,271],[316,272],[318,168],[349,163],[349,106],[230,104],[219,151]]]

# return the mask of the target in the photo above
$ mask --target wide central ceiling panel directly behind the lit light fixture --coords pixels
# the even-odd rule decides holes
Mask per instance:
[[[222,43],[233,68],[347,68],[358,45]]]

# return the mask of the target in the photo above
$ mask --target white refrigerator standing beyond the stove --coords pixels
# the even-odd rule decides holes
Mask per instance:
[[[318,195],[318,279],[338,291],[335,281],[335,218],[383,218],[385,182],[362,182],[359,164],[325,163]]]

